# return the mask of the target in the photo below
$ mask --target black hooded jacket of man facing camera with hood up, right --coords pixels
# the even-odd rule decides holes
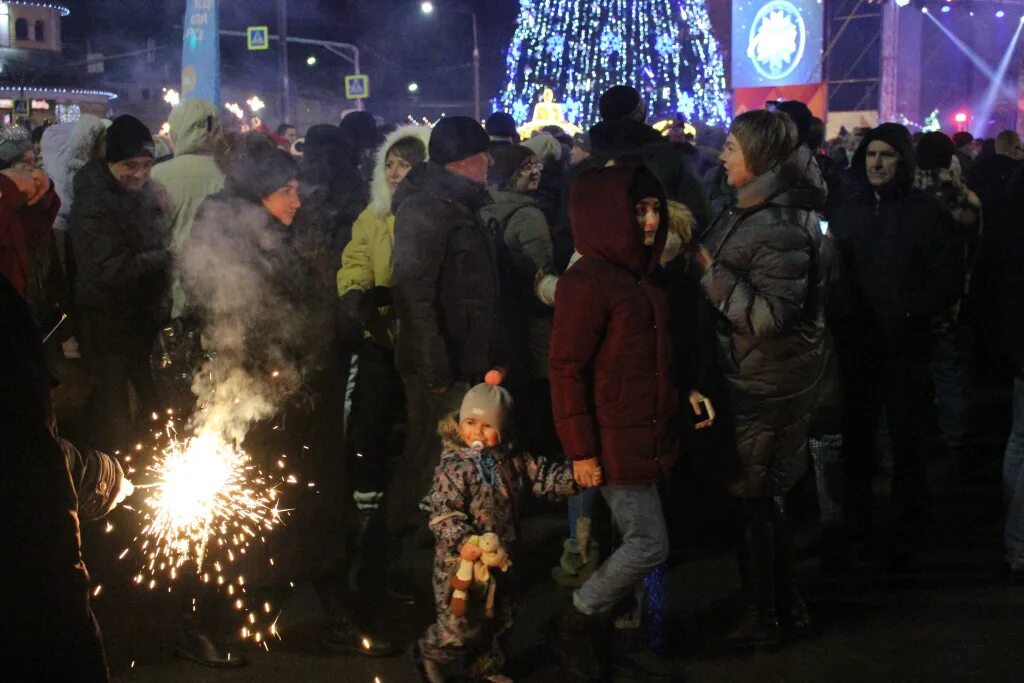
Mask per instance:
[[[949,212],[912,187],[909,136],[894,124],[870,131],[853,158],[853,193],[829,223],[849,284],[847,319],[835,328],[841,348],[927,355],[932,321],[964,291],[964,247]],[[876,195],[865,156],[872,140],[900,156],[895,179]]]

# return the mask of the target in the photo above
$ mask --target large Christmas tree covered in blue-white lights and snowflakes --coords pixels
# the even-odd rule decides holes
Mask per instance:
[[[612,85],[644,93],[651,118],[726,123],[725,68],[705,0],[521,0],[496,102],[522,123],[545,88],[565,118],[597,120]]]

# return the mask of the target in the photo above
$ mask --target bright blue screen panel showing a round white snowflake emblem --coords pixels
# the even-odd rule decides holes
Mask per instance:
[[[821,0],[733,0],[733,88],[821,82]]]

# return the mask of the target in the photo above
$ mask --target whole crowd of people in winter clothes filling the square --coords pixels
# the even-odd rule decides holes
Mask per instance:
[[[733,502],[744,605],[724,643],[813,633],[804,482],[823,571],[913,566],[927,469],[973,457],[979,367],[1014,384],[1006,562],[1024,577],[1020,136],[884,123],[826,142],[787,101],[694,139],[649,126],[628,86],[599,109],[574,137],[520,140],[501,112],[432,128],[355,112],[297,141],[189,99],[161,158],[131,116],[0,131],[14,671],[106,680],[79,524],[132,495],[108,454],[170,404],[161,354],[191,389],[179,413],[233,387],[249,412],[225,436],[318,483],[287,494],[281,566],[255,583],[310,582],[326,644],[393,654],[366,608],[431,575],[425,681],[510,680],[527,492],[567,500],[552,579],[572,598],[550,635],[566,676],[671,680],[644,645],[646,580],[678,537],[666,493],[711,447],[698,485]],[[81,449],[49,397],[47,365],[68,361],[87,371]],[[399,554],[428,529],[433,566],[411,575]],[[178,650],[245,666],[213,592],[189,594]]]

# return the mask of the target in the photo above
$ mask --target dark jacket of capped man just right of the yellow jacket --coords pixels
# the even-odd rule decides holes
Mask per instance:
[[[477,218],[480,183],[426,162],[395,193],[394,293],[398,370],[431,387],[470,381],[494,362],[498,268]]]

